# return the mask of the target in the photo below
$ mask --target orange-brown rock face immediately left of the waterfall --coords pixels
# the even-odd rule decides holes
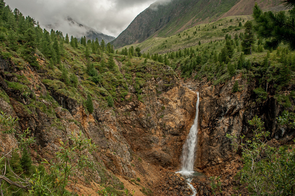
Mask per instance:
[[[144,103],[121,106],[118,110],[123,115],[117,119],[131,149],[151,163],[177,167],[194,119],[196,98],[195,92],[177,86]]]

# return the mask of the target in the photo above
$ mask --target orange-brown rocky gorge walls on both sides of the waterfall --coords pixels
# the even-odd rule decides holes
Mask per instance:
[[[44,59],[39,58],[39,62],[44,64]],[[242,165],[227,133],[250,137],[247,122],[259,115],[271,131],[273,145],[294,138],[294,132],[276,124],[275,117],[282,112],[282,105],[271,93],[266,100],[255,101],[255,79],[247,80],[241,75],[224,84],[212,85],[206,81],[183,81],[175,74],[165,77],[154,74],[142,87],[145,95],[142,101],[129,86],[125,99],[117,99],[112,108],[102,107],[94,99],[94,112],[89,114],[76,99],[44,82],[49,77],[46,69],[36,70],[26,64],[19,70],[9,59],[1,59],[0,68],[1,111],[19,118],[18,130],[28,127],[32,130],[36,137],[30,148],[33,160],[54,159],[59,141],[65,141],[73,131],[81,130],[98,145],[99,150],[91,156],[96,162],[96,172],[90,175],[88,184],[80,179],[85,187],[91,187],[91,182],[112,181],[116,189],[122,189],[122,181],[135,189],[138,185],[132,179],[140,176],[139,187],[150,189],[149,194],[162,195],[159,190],[163,190],[170,195],[189,195],[183,179],[174,171],[180,167],[182,146],[195,117],[196,92],[200,95],[200,105],[195,170],[207,176],[221,176],[224,188],[240,186],[234,176]],[[163,65],[164,73],[169,69]],[[153,69],[145,67],[145,71],[152,73]],[[235,80],[242,88],[232,93]],[[22,86],[16,87],[16,83]],[[83,94],[85,89],[78,88]],[[268,89],[271,92],[271,85]],[[294,90],[292,86],[286,89],[286,94],[291,90]],[[2,137],[2,142],[11,141]],[[206,176],[196,179],[192,183],[198,194],[209,195]],[[83,191],[84,188],[78,190]]]

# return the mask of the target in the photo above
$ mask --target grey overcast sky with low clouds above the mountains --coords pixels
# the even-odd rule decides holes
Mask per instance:
[[[74,36],[81,32],[70,27],[65,17],[99,32],[117,37],[132,20],[156,0],[4,0],[12,11],[19,9],[24,16],[39,21],[42,28],[58,23],[58,29]],[[47,29],[50,31],[50,29]],[[70,32],[72,31],[72,32]],[[73,32],[76,31],[76,32]]]

